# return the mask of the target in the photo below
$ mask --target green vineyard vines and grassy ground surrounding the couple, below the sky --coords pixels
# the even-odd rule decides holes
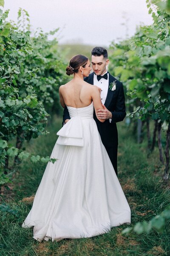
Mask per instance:
[[[68,81],[68,59],[80,50],[89,56],[92,47],[59,47],[57,39],[48,39],[58,29],[31,35],[25,10],[19,10],[17,24],[6,21],[8,11],[0,12],[1,255],[170,254],[170,1],[146,3],[153,25],[140,26],[109,49],[109,71],[126,93],[127,118],[118,124],[119,179],[132,226],[123,233],[124,226],[97,238],[42,245],[21,224],[46,163],[55,161],[47,155],[61,127],[58,88]]]

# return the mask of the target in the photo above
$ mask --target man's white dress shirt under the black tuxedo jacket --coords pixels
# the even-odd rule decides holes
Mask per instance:
[[[108,71],[106,71],[105,73],[107,73]],[[105,74],[103,74],[102,76],[104,76]],[[105,100],[108,94],[108,87],[109,87],[109,73],[108,73],[108,79],[105,78],[101,78],[99,81],[97,80],[97,75],[94,73],[94,85],[100,87],[102,89],[101,91],[101,101],[102,104],[105,104]],[[109,118],[109,121],[111,122],[111,118]]]

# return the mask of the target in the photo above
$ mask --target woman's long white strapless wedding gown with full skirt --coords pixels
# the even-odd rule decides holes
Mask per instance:
[[[68,107],[34,203],[22,227],[34,239],[87,238],[130,223],[130,207],[102,144],[94,106]],[[107,131],[106,131],[107,132]]]

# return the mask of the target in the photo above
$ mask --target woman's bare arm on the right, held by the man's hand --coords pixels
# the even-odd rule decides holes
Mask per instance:
[[[100,98],[100,92],[99,92],[99,87],[97,86],[93,86],[93,88],[91,88],[91,98],[93,100],[93,104],[94,104],[94,110],[95,113],[97,110],[99,109],[104,109],[102,107],[102,102],[101,102],[101,98]],[[105,119],[100,119],[97,115],[96,115],[97,119],[100,122],[105,122]]]

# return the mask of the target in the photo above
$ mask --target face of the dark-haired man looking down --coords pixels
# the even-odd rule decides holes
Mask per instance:
[[[106,66],[108,65],[109,60],[104,58],[103,55],[101,56],[91,56],[91,64],[94,73],[99,76],[99,75],[104,75],[106,73],[107,69]]]

